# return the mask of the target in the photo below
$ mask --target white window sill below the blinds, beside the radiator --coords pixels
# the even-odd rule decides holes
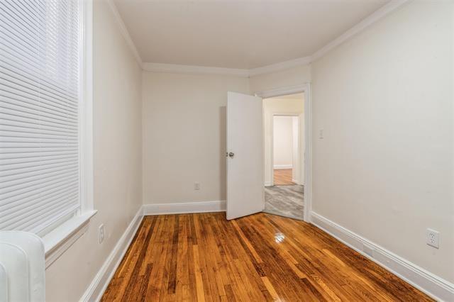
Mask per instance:
[[[89,221],[96,212],[89,211],[71,218],[43,237],[46,269],[87,232]]]

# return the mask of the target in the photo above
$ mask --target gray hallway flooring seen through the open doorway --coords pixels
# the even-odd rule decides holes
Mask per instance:
[[[265,211],[303,219],[304,187],[265,186]]]

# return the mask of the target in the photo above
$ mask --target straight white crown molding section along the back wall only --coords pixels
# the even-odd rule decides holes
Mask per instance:
[[[143,70],[146,72],[172,72],[183,74],[219,74],[236,77],[249,77],[248,69],[235,69],[223,67],[205,67],[194,65],[177,65],[162,63],[144,63]]]

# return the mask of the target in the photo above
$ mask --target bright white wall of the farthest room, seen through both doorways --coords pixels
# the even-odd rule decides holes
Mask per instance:
[[[292,169],[293,121],[292,116],[273,118],[273,164],[275,169]]]

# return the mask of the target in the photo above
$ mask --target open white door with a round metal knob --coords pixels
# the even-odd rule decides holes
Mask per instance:
[[[262,99],[227,94],[227,219],[263,210]]]

